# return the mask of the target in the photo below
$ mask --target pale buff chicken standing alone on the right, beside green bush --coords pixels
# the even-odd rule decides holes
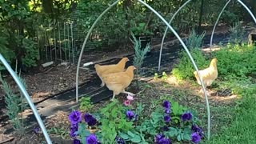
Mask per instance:
[[[206,68],[205,70],[199,70],[199,73],[202,76],[202,82],[206,87],[210,86],[218,77],[217,62],[217,58],[214,58],[211,60],[210,66],[208,68]],[[194,77],[197,79],[198,84],[201,85],[197,71],[194,71]],[[210,94],[207,93],[207,95]]]

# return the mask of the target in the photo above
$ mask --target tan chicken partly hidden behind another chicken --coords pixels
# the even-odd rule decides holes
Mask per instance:
[[[118,64],[105,65],[105,66],[96,64],[94,65],[94,68],[96,70],[96,73],[98,74],[98,77],[102,80],[102,76],[104,74],[118,73],[118,72],[124,71],[126,62],[128,61],[129,61],[128,58],[122,58],[122,60],[119,61]],[[105,82],[102,81],[101,86],[105,86]]]

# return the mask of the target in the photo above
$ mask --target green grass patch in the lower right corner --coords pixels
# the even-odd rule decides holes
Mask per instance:
[[[255,96],[246,96],[240,104],[234,108],[230,107],[230,111],[236,112],[230,126],[224,126],[219,134],[214,134],[207,143],[256,143]]]

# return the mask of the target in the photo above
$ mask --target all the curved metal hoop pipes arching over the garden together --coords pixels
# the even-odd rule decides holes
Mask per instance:
[[[95,20],[94,24],[90,27],[90,30],[88,31],[88,34],[86,35],[86,38],[83,42],[83,45],[82,45],[82,50],[80,52],[80,55],[79,55],[79,59],[78,59],[78,66],[77,66],[77,74],[76,74],[76,102],[78,102],[78,74],[79,74],[79,70],[80,70],[80,63],[81,63],[81,58],[82,58],[82,53],[83,53],[83,50],[86,46],[86,42],[90,36],[90,33],[92,32],[92,30],[94,29],[94,26],[98,23],[98,21],[102,18],[102,16],[104,14],[106,14],[106,12],[108,12],[113,6],[117,5],[118,2],[120,2],[121,0],[117,0],[116,2],[114,2],[113,4],[111,4],[108,8],[106,8],[106,10],[104,10],[102,12],[102,14],[100,14],[98,16],[98,18]],[[198,71],[198,66],[196,65],[196,63],[194,62],[194,59],[193,57],[191,56],[190,54],[190,51],[187,49],[185,43],[182,41],[182,38],[179,37],[179,35],[177,34],[177,32],[173,29],[172,26],[170,26],[170,22],[172,22],[172,20],[174,19],[175,15],[178,14],[178,12],[180,10],[182,10],[182,8],[184,6],[186,6],[186,4],[188,4],[191,0],[188,0],[187,2],[185,2],[177,11],[176,13],[173,15],[173,17],[170,19],[170,22],[168,23],[166,21],[165,18],[162,18],[162,16],[160,14],[158,14],[158,12],[156,10],[154,10],[151,6],[149,6],[148,4],[146,4],[146,2],[143,2],[142,0],[137,0],[138,2],[140,2],[142,5],[146,6],[148,9],[150,9],[152,12],[154,12],[154,14],[156,14],[158,16],[158,18],[160,18],[162,20],[162,22],[164,22],[166,24],[166,31],[165,31],[165,34],[163,36],[163,40],[162,40],[162,45],[163,45],[163,42],[164,42],[164,38],[166,37],[166,33],[167,33],[167,30],[170,29],[174,35],[178,38],[178,41],[181,42],[182,44],[182,47],[186,50],[186,53],[188,54],[193,66],[194,66],[194,69],[198,72],[198,75],[199,75],[199,79],[200,79],[200,82],[202,83],[202,76],[199,74],[199,71]],[[254,22],[256,23],[256,18],[254,17],[254,14],[252,14],[252,12],[250,11],[250,9],[241,1],[241,0],[236,0],[238,1],[247,11],[248,13],[251,15],[251,17],[254,19]],[[226,5],[223,7],[221,13],[218,15],[218,19],[217,21],[215,22],[214,24],[214,29],[212,31],[212,34],[211,34],[211,38],[210,38],[210,46],[212,46],[212,41],[213,41],[213,37],[214,37],[214,30],[218,24],[218,20],[219,18],[222,16],[222,13],[223,11],[226,9],[226,6],[228,6],[228,4],[231,2],[231,0],[229,0],[228,2],[226,2]],[[161,50],[160,50],[160,55],[159,55],[159,67],[158,67],[158,70],[160,70],[160,62],[161,62],[161,55],[162,55],[162,45],[161,45]],[[0,61],[2,62],[2,64],[6,67],[6,70],[9,71],[9,73],[11,74],[11,76],[14,78],[14,81],[18,84],[18,87],[19,89],[22,91],[22,94],[24,94],[25,98],[26,98],[26,101],[29,103],[30,105],[30,108],[31,110],[33,111],[34,113],[34,116],[35,118],[37,119],[38,121],[38,124],[40,126],[40,128],[42,129],[42,133],[44,135],[44,137],[46,138],[46,142],[48,144],[51,144],[52,142],[50,141],[50,137],[49,137],[49,134],[47,133],[46,131],[46,127],[44,126],[43,122],[42,122],[42,119],[40,118],[39,114],[38,114],[38,111],[36,109],[36,107],[34,106],[34,103],[31,101],[30,99],[30,96],[29,94],[27,93],[25,87],[22,85],[22,82],[20,82],[20,80],[18,79],[18,76],[17,74],[15,74],[14,70],[11,69],[10,65],[8,64],[8,62],[6,62],[6,59],[2,57],[2,54],[0,54]],[[207,126],[207,138],[208,140],[210,139],[210,107],[209,107],[209,102],[208,102],[208,97],[206,95],[206,87],[203,85],[202,83],[202,89],[203,89],[203,92],[205,94],[205,98],[206,98],[206,107],[207,107],[207,114],[208,114],[208,117],[207,117],[207,120],[208,120],[208,126]]]

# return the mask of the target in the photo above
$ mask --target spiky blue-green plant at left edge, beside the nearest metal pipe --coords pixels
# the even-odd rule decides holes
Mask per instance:
[[[23,86],[26,86],[25,81],[20,77],[20,75],[18,75],[18,78],[22,82]],[[25,124],[21,113],[23,112],[23,110],[26,110],[28,104],[26,103],[25,98],[22,95],[22,92],[19,91],[19,95],[15,94],[14,90],[11,90],[11,87],[6,82],[6,80],[2,79],[1,74],[0,82],[2,82],[3,90],[6,93],[6,114],[10,119],[10,123],[18,134],[25,134]]]

